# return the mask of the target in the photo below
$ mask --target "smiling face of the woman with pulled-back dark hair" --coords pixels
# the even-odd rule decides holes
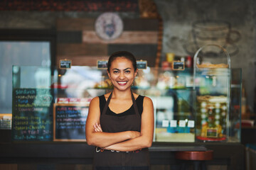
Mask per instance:
[[[137,70],[134,71],[132,62],[125,57],[117,57],[111,63],[110,72],[107,72],[114,88],[126,90],[132,86]]]

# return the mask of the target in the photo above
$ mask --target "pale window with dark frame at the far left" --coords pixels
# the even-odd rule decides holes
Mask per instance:
[[[1,34],[0,114],[11,113],[13,65],[50,67],[55,64],[54,31],[2,30]]]

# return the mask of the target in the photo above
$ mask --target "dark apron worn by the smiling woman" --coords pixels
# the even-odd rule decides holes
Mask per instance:
[[[105,107],[100,115],[100,125],[103,132],[123,132],[123,131],[141,131],[142,118],[139,115],[137,103],[132,94],[132,103],[135,114],[114,116],[107,115],[108,105],[112,93],[110,94]],[[95,147],[93,169],[95,170],[148,170],[149,169],[149,149],[139,149],[133,152],[119,152],[114,150],[105,150]]]

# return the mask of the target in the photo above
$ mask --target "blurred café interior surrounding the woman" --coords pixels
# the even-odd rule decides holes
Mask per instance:
[[[154,103],[151,169],[256,169],[256,3],[0,2],[0,169],[92,169],[90,101],[107,59],[137,57],[132,91]]]

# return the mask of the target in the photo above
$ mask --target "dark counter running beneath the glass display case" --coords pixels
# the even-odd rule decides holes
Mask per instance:
[[[92,164],[95,147],[86,142],[1,142],[0,164]],[[227,142],[154,142],[149,148],[152,165],[178,167],[176,151],[213,149],[208,165],[244,169],[245,147]]]

